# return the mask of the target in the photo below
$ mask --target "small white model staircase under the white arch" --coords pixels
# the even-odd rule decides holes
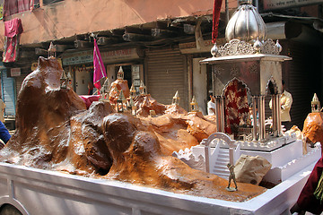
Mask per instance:
[[[216,176],[228,179],[230,175],[229,168],[227,168],[227,164],[230,162],[229,149],[220,148],[218,154],[214,156],[216,157],[216,160],[212,173]]]

